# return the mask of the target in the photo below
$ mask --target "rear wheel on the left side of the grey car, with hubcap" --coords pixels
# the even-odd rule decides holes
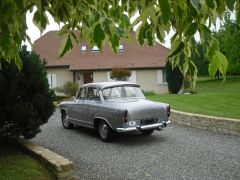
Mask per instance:
[[[98,134],[99,134],[100,139],[103,142],[108,142],[113,138],[113,130],[105,121],[99,122]]]

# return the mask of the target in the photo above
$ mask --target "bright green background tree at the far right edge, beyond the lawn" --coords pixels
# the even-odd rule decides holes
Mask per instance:
[[[240,74],[240,26],[230,18],[230,12],[225,14],[223,25],[214,35],[221,52],[228,58],[227,72]]]

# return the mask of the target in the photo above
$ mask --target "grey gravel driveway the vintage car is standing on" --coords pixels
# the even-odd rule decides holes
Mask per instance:
[[[93,130],[62,127],[59,111],[32,141],[75,163],[77,179],[240,179],[240,138],[170,125],[150,136],[101,142]]]

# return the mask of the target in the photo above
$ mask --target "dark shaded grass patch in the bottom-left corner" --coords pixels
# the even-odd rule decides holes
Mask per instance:
[[[51,180],[52,174],[37,160],[19,149],[0,144],[0,179]]]

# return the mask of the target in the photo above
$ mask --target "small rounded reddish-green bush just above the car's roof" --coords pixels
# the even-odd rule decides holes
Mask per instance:
[[[131,76],[131,72],[128,69],[121,67],[115,67],[112,69],[111,78],[119,81],[126,81]]]

